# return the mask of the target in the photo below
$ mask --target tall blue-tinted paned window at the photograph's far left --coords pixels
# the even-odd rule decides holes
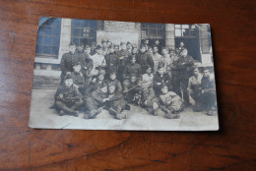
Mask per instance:
[[[39,19],[36,56],[57,58],[59,53],[61,19],[42,17]]]

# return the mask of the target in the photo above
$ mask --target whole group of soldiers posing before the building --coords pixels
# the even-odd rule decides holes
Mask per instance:
[[[96,118],[107,110],[115,119],[125,119],[123,110],[130,104],[149,114],[165,113],[165,118],[179,118],[184,107],[192,104],[196,112],[213,115],[216,105],[214,78],[194,65],[184,43],[177,49],[149,40],[137,47],[130,42],[120,45],[102,40],[101,45],[70,43],[63,54],[61,83],[55,93],[54,108],[60,115]]]

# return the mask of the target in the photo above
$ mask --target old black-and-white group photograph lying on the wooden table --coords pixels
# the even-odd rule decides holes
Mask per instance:
[[[218,131],[210,25],[39,18],[30,127]]]

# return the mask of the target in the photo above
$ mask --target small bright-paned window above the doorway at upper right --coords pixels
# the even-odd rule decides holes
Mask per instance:
[[[195,25],[175,25],[176,37],[196,37],[197,32]]]

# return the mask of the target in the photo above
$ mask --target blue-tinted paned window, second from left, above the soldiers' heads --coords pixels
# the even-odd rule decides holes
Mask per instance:
[[[76,44],[90,44],[96,41],[96,21],[72,20],[71,41]]]

